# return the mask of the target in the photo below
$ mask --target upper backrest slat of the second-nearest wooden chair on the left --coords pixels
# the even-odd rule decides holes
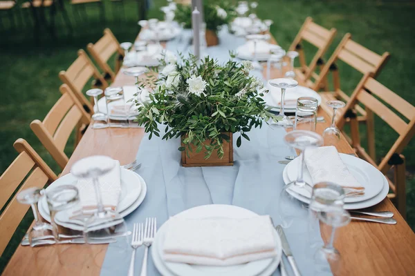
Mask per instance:
[[[45,128],[50,133],[55,133],[57,126],[59,126],[62,117],[68,112],[68,110],[73,106],[73,101],[71,96],[68,94],[60,97],[55,105],[50,109],[48,115],[46,115],[43,124]]]

